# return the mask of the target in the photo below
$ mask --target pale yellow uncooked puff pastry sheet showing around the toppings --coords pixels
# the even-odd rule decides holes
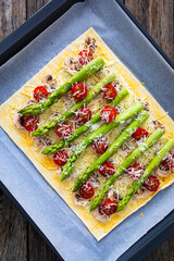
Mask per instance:
[[[98,222],[92,213],[88,211],[86,208],[82,208],[75,206],[74,196],[72,192],[72,187],[74,184],[73,179],[67,178],[65,182],[60,182],[60,170],[58,165],[52,160],[52,157],[44,156],[40,153],[38,147],[34,144],[34,138],[26,130],[18,130],[13,124],[14,112],[17,111],[22,104],[33,96],[33,90],[36,86],[39,86],[41,83],[41,78],[45,75],[51,74],[53,77],[58,79],[58,85],[63,84],[67,78],[70,78],[69,73],[64,73],[63,63],[65,59],[71,57],[77,57],[79,50],[84,48],[84,42],[87,37],[95,38],[97,45],[97,51],[95,55],[101,55],[108,69],[111,69],[115,74],[116,78],[121,83],[123,87],[128,88],[128,90],[133,90],[136,96],[142,101],[148,101],[149,110],[154,115],[156,120],[160,120],[161,123],[165,126],[165,138],[174,138],[174,122],[171,117],[163,111],[163,109],[159,105],[159,103],[152,98],[152,96],[146,90],[142,84],[125,67],[125,65],[116,58],[116,55],[109,49],[109,47],[103,42],[103,40],[99,37],[99,35],[92,29],[89,28],[85,34],[83,34],[79,38],[77,38],[74,42],[67,46],[61,53],[59,53],[54,59],[52,59],[44,69],[41,69],[32,79],[29,79],[18,91],[16,91],[8,101],[5,101],[0,107],[0,125],[8,133],[11,139],[23,150],[23,152],[28,157],[28,159],[33,162],[36,169],[40,172],[40,174],[46,178],[46,181],[51,185],[51,187],[64,199],[64,201],[69,204],[69,207],[76,213],[76,215],[84,222],[89,232],[96,237],[97,240],[103,238],[110,231],[112,231],[115,226],[117,226],[124,219],[130,215],[133,212],[138,210],[140,207],[146,204],[157,192],[150,194],[146,199],[132,200],[130,203],[121,212],[115,213],[111,216],[111,219],[107,223]],[[104,73],[103,69],[103,73]],[[95,76],[92,77],[95,85]],[[89,80],[84,80],[87,85],[90,85]],[[132,94],[130,94],[132,96]],[[95,102],[90,103],[92,112],[96,112],[99,108],[95,108],[94,104],[98,101],[100,104],[100,97],[95,100]],[[125,100],[129,98],[125,98]],[[123,103],[124,104],[124,100]],[[128,103],[127,103],[128,104]],[[69,105],[69,104],[67,104]],[[72,105],[72,104],[70,104]],[[53,108],[55,108],[60,113],[63,113],[67,108],[63,103],[63,99],[59,100],[58,104],[51,107],[48,112],[41,115],[41,121],[47,120],[48,114],[51,113]],[[49,115],[50,116],[50,115]],[[148,124],[148,123],[146,123]],[[115,130],[116,133],[116,130]],[[114,130],[110,134],[110,140],[114,140],[115,137]],[[75,144],[79,142],[86,134],[80,136]],[[91,149],[91,146],[86,150],[86,153],[83,154],[78,159],[77,165],[83,165],[83,170],[85,170],[88,165],[86,165],[86,161],[84,159],[88,159],[91,162],[95,161],[96,156]],[[88,163],[89,164],[89,163]],[[79,166],[80,167],[80,166]],[[80,173],[83,170],[78,170],[75,167],[75,172]],[[169,175],[166,178],[160,178],[160,191],[161,189],[170,186],[174,182],[174,173]],[[46,207],[47,208],[47,207]]]

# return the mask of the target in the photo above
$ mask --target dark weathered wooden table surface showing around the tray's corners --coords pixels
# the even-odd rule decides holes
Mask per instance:
[[[49,0],[0,0],[0,40],[47,2]],[[124,0],[124,3],[171,60],[174,60],[174,0]],[[0,261],[59,261],[2,191]],[[145,261],[174,261],[174,236],[159,246]]]

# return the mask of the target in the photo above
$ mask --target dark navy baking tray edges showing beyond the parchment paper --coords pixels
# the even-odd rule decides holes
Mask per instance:
[[[44,29],[46,29],[50,24],[52,24],[60,15],[62,15],[73,3],[78,1],[72,0],[52,0],[39,12],[37,12],[32,18],[24,23],[18,29],[16,29],[12,35],[4,39],[0,45],[0,61],[3,64],[12,55],[17,53],[22,48],[29,44],[37,35],[39,35]],[[163,59],[173,67],[172,61],[166,57],[162,49],[156,44],[156,41],[147,34],[147,32],[141,27],[141,25],[135,20],[135,17],[129,13],[125,5],[121,1],[116,1],[117,4],[124,10],[126,15],[136,24],[136,26],[141,30],[146,38],[151,42],[151,45],[157,49],[157,51],[163,57]],[[116,4],[116,3],[115,3]],[[29,222],[35,226],[39,234],[46,239],[49,246],[53,248],[51,243],[46,238],[42,232],[38,228],[34,221],[28,216],[25,210],[20,206],[20,203],[14,199],[12,194],[5,188],[1,183],[1,188],[4,192],[12,199],[12,201],[18,207],[18,209],[24,213],[24,215],[29,220]],[[164,220],[162,220],[158,225],[150,229],[144,237],[141,237],[136,244],[134,244],[119,261],[126,260],[138,260],[140,261],[149,252],[151,252],[159,244],[167,239],[172,234],[174,234],[174,211],[172,211]],[[57,252],[57,250],[54,249]],[[58,252],[57,252],[58,253]]]

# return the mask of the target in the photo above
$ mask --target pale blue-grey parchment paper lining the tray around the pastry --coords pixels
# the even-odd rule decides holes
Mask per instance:
[[[0,101],[5,101],[90,26],[174,117],[172,69],[113,0],[75,4],[5,63],[0,70]],[[0,165],[2,183],[66,261],[116,260],[174,209],[172,185],[97,243],[2,129]]]

